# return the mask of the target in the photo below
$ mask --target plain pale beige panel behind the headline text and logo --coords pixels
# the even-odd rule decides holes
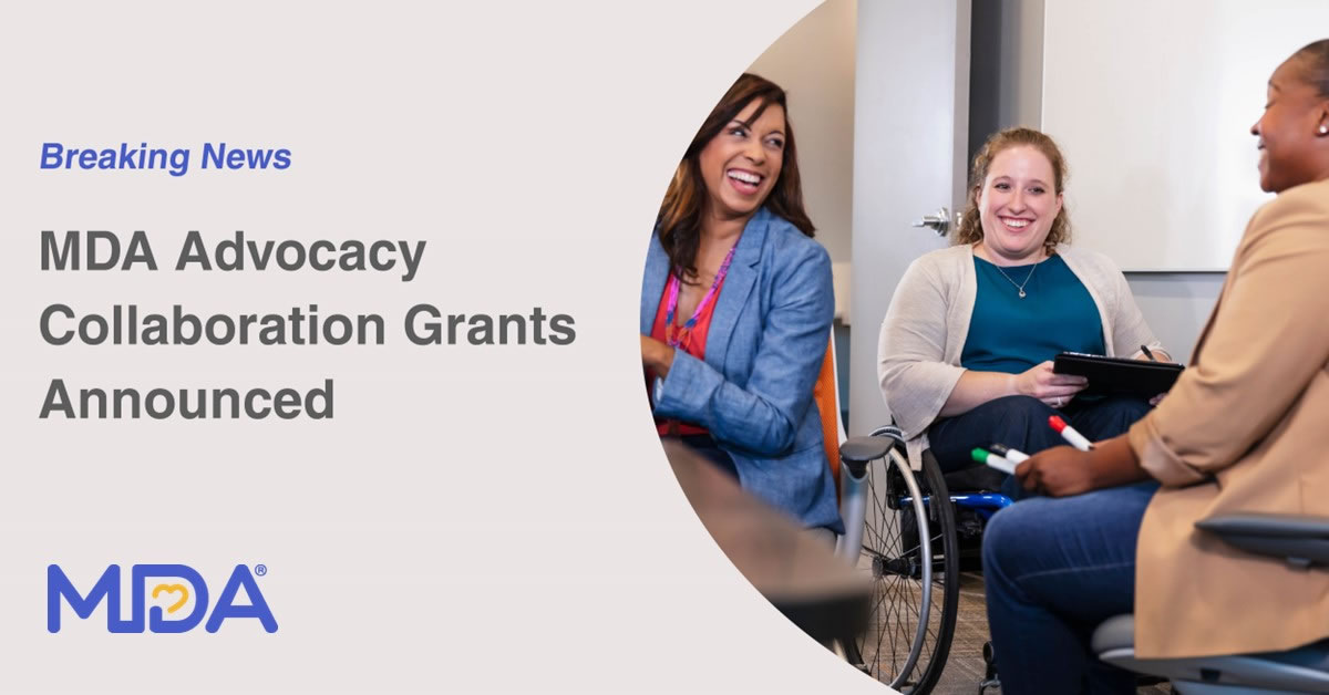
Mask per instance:
[[[651,432],[646,230],[732,77],[812,0],[171,3],[0,15],[0,691],[880,692],[715,549]],[[286,146],[287,171],[41,171],[40,144]],[[41,272],[40,230],[162,270]],[[174,272],[218,241],[428,239],[399,274]],[[381,347],[51,347],[53,302],[379,312]],[[557,347],[416,347],[405,310],[571,314]],[[336,420],[40,421],[80,387],[336,381]],[[235,563],[280,623],[45,630],[45,567]],[[126,578],[128,582],[128,578]],[[126,597],[128,599],[128,597]]]

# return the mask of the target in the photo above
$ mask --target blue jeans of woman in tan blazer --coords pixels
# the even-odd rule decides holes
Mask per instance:
[[[1002,692],[1135,692],[1135,676],[1098,660],[1090,638],[1134,613],[1135,541],[1158,488],[1035,497],[987,522],[983,582]]]

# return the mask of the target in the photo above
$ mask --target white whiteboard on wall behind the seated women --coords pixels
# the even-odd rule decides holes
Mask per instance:
[[[1046,0],[1043,130],[1076,246],[1126,271],[1227,270],[1260,191],[1269,74],[1329,37],[1325,0]]]

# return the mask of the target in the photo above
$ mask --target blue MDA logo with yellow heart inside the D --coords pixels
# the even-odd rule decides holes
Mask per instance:
[[[255,566],[255,571],[262,577],[267,573],[267,567],[258,565]],[[263,630],[268,633],[276,631],[276,621],[272,618],[272,611],[267,607],[267,601],[263,598],[263,593],[259,591],[254,574],[245,565],[237,565],[235,570],[231,571],[231,578],[226,581],[221,595],[217,597],[217,606],[213,607],[211,615],[207,615],[207,585],[203,582],[203,577],[187,565],[134,565],[129,575],[132,591],[130,615],[125,619],[118,615],[121,613],[120,565],[106,567],[106,571],[101,574],[101,578],[97,579],[97,583],[86,594],[81,594],[74,589],[73,582],[60,569],[60,565],[48,566],[47,630],[51,633],[60,631],[60,603],[61,598],[64,598],[69,603],[69,607],[73,609],[74,615],[82,619],[89,618],[102,599],[108,599],[106,630],[112,633],[142,633],[145,613],[148,618],[146,627],[153,633],[187,633],[203,622],[205,615],[207,617],[207,623],[203,629],[209,633],[215,633],[221,629],[222,621],[227,618],[256,618]],[[149,577],[154,579],[183,581],[161,582],[149,590]],[[249,605],[235,605],[235,595],[242,587],[245,589],[245,594],[249,595]],[[191,595],[194,598],[194,610],[189,615],[166,619],[166,615],[183,609]],[[149,607],[149,597],[153,599],[173,601],[173,603],[166,606],[165,611],[162,606]]]

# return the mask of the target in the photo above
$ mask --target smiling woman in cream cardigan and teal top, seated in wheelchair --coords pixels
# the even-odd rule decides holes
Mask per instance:
[[[1170,359],[1112,262],[1069,246],[1067,170],[1038,130],[994,134],[974,158],[953,246],[914,260],[881,326],[881,392],[910,458],[932,449],[944,472],[975,447],[1027,453],[1058,444],[1062,415],[1090,439],[1119,435],[1143,399],[1086,397],[1053,372],[1058,352]],[[1007,480],[1006,492],[1015,488]]]

